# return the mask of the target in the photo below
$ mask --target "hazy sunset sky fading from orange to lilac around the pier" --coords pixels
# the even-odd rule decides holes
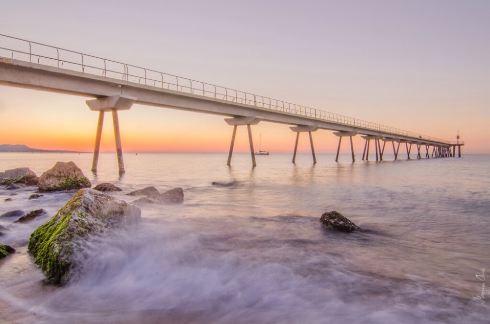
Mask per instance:
[[[1,5],[0,34],[441,139],[459,130],[464,153],[490,154],[489,17],[488,0],[16,0]],[[87,99],[0,86],[0,144],[92,151]],[[119,117],[125,152],[229,149],[222,116],[134,105]],[[293,151],[288,126],[252,130],[263,149]],[[335,152],[332,132],[313,136]],[[239,127],[235,150],[247,140]],[[110,115],[101,149],[115,151]]]

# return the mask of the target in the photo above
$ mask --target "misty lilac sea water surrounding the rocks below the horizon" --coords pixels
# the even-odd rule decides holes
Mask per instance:
[[[83,277],[57,288],[26,245],[74,192],[0,188],[0,214],[49,212],[0,219],[17,250],[0,261],[0,323],[489,323],[490,156],[291,158],[127,153],[120,178],[115,154],[94,175],[91,154],[1,153],[0,171],[73,161],[128,202],[150,185],[182,187],[185,202],[144,206],[140,226],[87,242]],[[364,231],[323,229],[331,210]]]

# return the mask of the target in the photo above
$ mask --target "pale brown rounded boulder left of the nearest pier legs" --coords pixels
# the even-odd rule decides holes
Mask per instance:
[[[61,191],[90,188],[92,184],[75,163],[56,162],[39,177],[37,186],[39,191]]]

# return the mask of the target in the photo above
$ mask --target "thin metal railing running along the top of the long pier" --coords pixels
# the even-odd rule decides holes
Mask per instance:
[[[362,119],[329,113],[262,95],[225,88],[2,34],[0,34],[0,57],[99,75],[180,93],[191,93],[247,106],[270,109],[285,114],[305,116],[322,121],[326,120],[332,123],[380,131],[394,136],[406,136],[414,139],[449,144],[449,141],[443,139],[380,125]]]

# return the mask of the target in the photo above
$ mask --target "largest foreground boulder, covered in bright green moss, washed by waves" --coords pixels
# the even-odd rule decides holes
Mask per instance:
[[[81,189],[30,236],[28,251],[47,274],[64,285],[80,276],[84,241],[141,220],[141,210],[93,189]]]

